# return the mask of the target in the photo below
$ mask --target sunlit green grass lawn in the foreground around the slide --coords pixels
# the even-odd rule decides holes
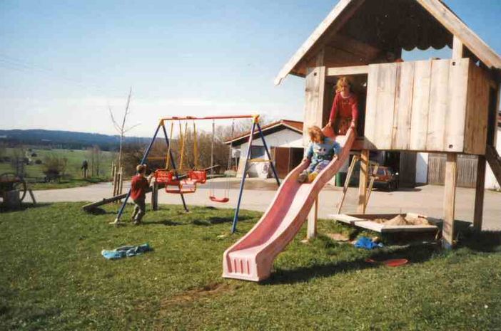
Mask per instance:
[[[108,225],[116,206],[90,215],[79,203],[0,214],[0,330],[501,330],[500,233],[461,246],[386,246],[331,240],[353,229],[320,221],[275,261],[264,283],[221,278],[223,251],[260,213],[161,206],[143,226]],[[131,211],[129,206],[124,219]],[[150,243],[118,261],[100,252]],[[401,258],[398,268],[365,259]]]

